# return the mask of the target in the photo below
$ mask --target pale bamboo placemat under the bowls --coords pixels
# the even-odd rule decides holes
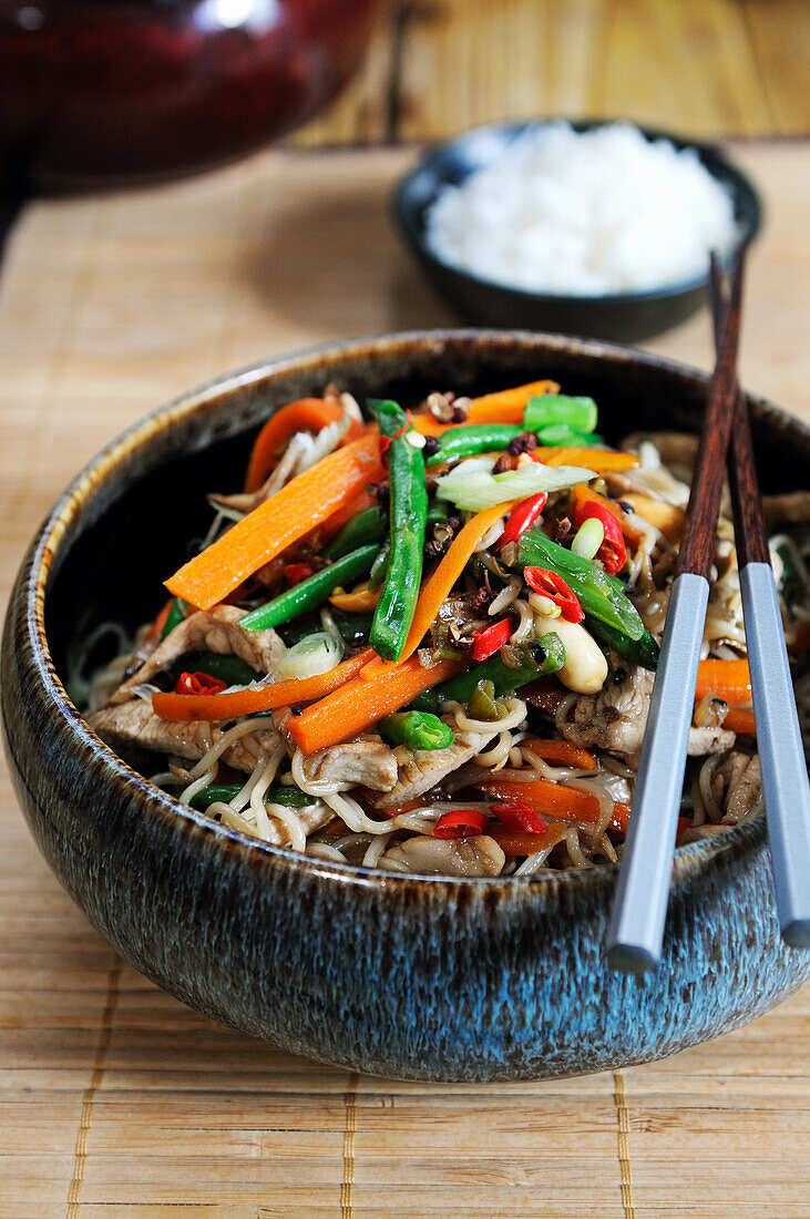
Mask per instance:
[[[767,230],[747,384],[810,418],[806,145],[744,145]],[[413,152],[274,152],[40,202],[0,278],[0,583],[66,480],[188,386],[274,352],[452,321],[386,202]],[[705,317],[655,349],[706,364]],[[720,1041],[558,1082],[347,1075],[203,1020],[123,965],[0,790],[0,1215],[630,1219],[810,1214],[805,993]]]

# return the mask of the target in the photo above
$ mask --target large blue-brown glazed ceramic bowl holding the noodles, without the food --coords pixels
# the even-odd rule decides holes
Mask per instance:
[[[415,401],[554,377],[600,430],[694,428],[704,375],[525,333],[393,335],[274,360],[150,416],[71,484],[32,542],[2,651],[19,803],[49,864],[136,969],[206,1015],[343,1067],[515,1080],[660,1058],[766,1012],[810,976],[778,934],[762,822],[676,852],[664,958],[611,973],[616,869],[429,879],[308,859],[177,803],[104,745],[66,695],[94,620],[155,612],[160,581],[236,486],[259,421],[328,382]],[[767,486],[801,486],[810,429],[753,399]]]

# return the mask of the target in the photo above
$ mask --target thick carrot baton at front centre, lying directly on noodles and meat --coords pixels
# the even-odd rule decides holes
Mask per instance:
[[[412,656],[404,664],[392,666],[374,681],[357,677],[334,694],[313,703],[289,723],[290,735],[305,753],[315,753],[339,745],[372,728],[384,716],[407,706],[423,690],[438,685],[460,672],[465,662],[441,661],[424,668]]]

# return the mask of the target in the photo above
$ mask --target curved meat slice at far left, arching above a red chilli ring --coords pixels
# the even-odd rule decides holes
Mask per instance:
[[[245,610],[239,610],[236,606],[217,606],[216,610],[200,610],[192,613],[175,627],[138,672],[118,688],[110,700],[111,705],[132,698],[134,686],[143,685],[156,673],[171,668],[186,652],[239,656],[257,673],[272,672],[275,661],[284,651],[284,644],[273,629],[242,630],[239,619],[244,618],[245,613]]]

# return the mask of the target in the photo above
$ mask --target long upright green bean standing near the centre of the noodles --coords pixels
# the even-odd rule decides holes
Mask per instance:
[[[407,425],[404,411],[390,401],[372,400],[368,405],[380,423],[382,435],[391,438],[387,451],[391,560],[369,641],[382,659],[397,661],[408,638],[421,583],[428,518],[425,463],[421,451],[414,449],[404,434],[396,435]]]

